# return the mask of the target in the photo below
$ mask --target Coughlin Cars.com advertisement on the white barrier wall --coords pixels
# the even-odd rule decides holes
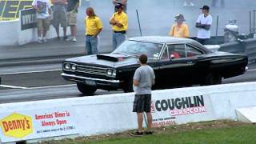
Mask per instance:
[[[154,127],[214,120],[213,110],[210,96],[204,94],[168,96],[157,93],[151,102]]]

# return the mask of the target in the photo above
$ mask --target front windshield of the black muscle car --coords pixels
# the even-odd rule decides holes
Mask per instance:
[[[146,54],[148,58],[159,58],[162,46],[162,43],[126,40],[120,46],[118,46],[116,50],[114,50],[113,54],[126,54],[134,56]]]

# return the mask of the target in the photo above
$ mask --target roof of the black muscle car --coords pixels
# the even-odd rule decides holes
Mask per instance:
[[[158,43],[186,43],[190,44],[192,46],[196,46],[198,48],[201,48],[206,53],[212,53],[210,50],[208,50],[205,46],[202,46],[199,42],[190,39],[190,38],[174,38],[170,36],[142,36],[142,37],[134,37],[134,38],[127,38],[131,41],[142,41],[142,42],[158,42]]]

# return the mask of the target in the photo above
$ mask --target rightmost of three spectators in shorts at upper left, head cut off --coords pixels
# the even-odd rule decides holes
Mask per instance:
[[[79,0],[67,0],[66,21],[70,26],[71,37],[67,41],[77,42],[77,15]]]

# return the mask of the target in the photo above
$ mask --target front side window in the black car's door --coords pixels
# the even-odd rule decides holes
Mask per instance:
[[[169,58],[186,58],[185,44],[170,44],[168,46]]]

